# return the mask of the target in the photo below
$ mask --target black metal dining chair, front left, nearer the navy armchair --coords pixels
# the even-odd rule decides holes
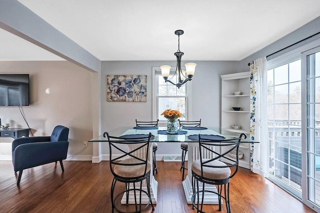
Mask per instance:
[[[150,196],[151,163],[148,161],[151,133],[145,136],[140,135],[139,137],[132,139],[123,139],[121,137],[109,136],[107,132],[104,132],[103,137],[107,138],[110,149],[109,164],[113,175],[110,191],[112,213],[114,210],[119,213],[123,213],[123,211],[125,210],[126,212],[127,209],[131,211],[130,213],[140,213],[145,210],[149,204],[151,204],[152,211],[154,211]],[[127,149],[123,149],[123,144],[130,146],[131,149],[129,149],[129,151],[127,151]],[[116,155],[113,154],[114,152]],[[138,156],[135,155],[136,153],[139,153]],[[147,191],[142,189],[142,181],[144,180],[146,181]],[[125,183],[125,190],[114,195],[115,185],[117,182]],[[130,186],[130,184],[132,186]],[[139,188],[136,188],[136,184]],[[132,208],[134,211],[128,207],[130,192],[131,196],[134,197],[134,208]],[[144,193],[148,198],[147,204],[145,204],[145,206],[143,205],[143,207],[141,204],[142,193]],[[126,206],[116,206],[116,204],[119,203],[117,200],[120,199],[123,194],[126,196]],[[137,202],[137,197],[139,202]]]

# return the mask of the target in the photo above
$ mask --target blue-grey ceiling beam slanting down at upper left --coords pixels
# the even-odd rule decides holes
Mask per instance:
[[[92,72],[101,61],[17,0],[0,0],[0,28]]]

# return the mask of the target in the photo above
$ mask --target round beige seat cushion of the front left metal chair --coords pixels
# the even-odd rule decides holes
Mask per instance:
[[[120,161],[119,163],[122,164],[135,164],[135,163],[141,163],[141,161],[135,159],[135,158],[128,158],[123,161]],[[122,166],[122,165],[115,165],[114,166],[114,173],[120,177],[124,178],[134,178],[134,177],[140,177],[144,173],[145,165],[137,165],[137,166]],[[150,171],[151,164],[150,162],[147,162],[146,166],[146,172],[148,173]]]

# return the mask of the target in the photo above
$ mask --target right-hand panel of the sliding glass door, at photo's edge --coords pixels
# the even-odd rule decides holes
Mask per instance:
[[[312,207],[320,206],[320,47],[303,52],[301,61],[305,67],[302,76],[306,79],[302,84],[306,90],[303,100],[306,107],[302,111],[306,126],[302,131],[305,141],[302,201]]]

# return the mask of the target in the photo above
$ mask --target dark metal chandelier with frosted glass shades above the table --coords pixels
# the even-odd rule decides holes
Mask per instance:
[[[186,64],[184,64],[185,70],[181,70],[181,57],[184,53],[180,51],[180,35],[183,34],[183,30],[181,30],[181,29],[175,30],[174,34],[176,34],[178,36],[178,50],[174,53],[174,55],[176,56],[176,69],[173,74],[173,76],[175,74],[177,74],[177,77],[178,77],[177,83],[175,84],[172,81],[168,80],[171,66],[162,65],[162,66],[160,66],[160,69],[161,69],[161,75],[162,75],[165,82],[169,82],[169,83],[177,86],[178,88],[180,88],[185,82],[191,80],[191,78],[194,74],[194,69],[195,69],[196,63],[186,63]]]

